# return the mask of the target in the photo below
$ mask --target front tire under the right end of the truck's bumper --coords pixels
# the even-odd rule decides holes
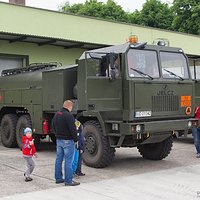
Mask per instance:
[[[173,139],[172,137],[160,143],[144,144],[138,146],[138,150],[143,158],[150,160],[162,160],[166,158],[172,149]]]

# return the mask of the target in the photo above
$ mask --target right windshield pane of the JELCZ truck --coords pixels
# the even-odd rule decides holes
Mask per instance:
[[[188,79],[186,58],[181,53],[160,52],[163,78]]]

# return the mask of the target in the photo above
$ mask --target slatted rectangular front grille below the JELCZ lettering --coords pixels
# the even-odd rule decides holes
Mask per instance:
[[[152,111],[178,111],[179,98],[178,96],[152,96]]]

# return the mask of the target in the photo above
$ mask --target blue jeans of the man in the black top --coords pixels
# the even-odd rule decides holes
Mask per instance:
[[[65,159],[65,183],[71,183],[73,178],[72,162],[75,151],[74,141],[57,139],[56,144],[55,179],[56,181],[61,181],[63,179],[62,162],[63,159]]]

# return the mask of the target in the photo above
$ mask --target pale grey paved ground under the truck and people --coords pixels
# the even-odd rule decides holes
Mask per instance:
[[[32,182],[24,182],[25,169],[19,149],[0,144],[0,200],[198,200],[200,159],[192,138],[175,140],[171,154],[162,161],[143,159],[136,148],[117,149],[115,160],[104,169],[83,165],[80,186],[54,182],[55,147],[42,143]]]

